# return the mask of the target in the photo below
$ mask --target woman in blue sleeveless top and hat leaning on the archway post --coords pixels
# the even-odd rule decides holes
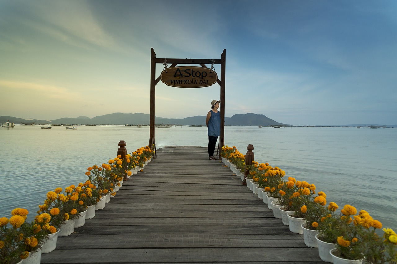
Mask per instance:
[[[220,101],[212,100],[211,110],[208,111],[205,123],[208,127],[208,159],[215,161],[214,157],[216,141],[221,132],[221,113],[218,111]]]

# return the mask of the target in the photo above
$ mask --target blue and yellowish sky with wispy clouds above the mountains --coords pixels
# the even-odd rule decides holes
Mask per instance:
[[[0,0],[0,116],[149,113],[150,48],[226,49],[226,117],[397,124],[396,14],[395,0]],[[219,98],[218,84],[159,82],[156,116],[206,115]]]

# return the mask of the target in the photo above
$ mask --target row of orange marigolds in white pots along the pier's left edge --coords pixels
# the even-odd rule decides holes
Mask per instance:
[[[26,221],[29,212],[23,208],[13,209],[10,218],[0,218],[1,263],[40,263],[41,253],[53,251],[58,236],[70,235],[93,218],[95,210],[103,209],[116,195],[124,176],[142,171],[153,155],[154,150],[146,146],[124,158],[118,155],[101,166],[90,166],[84,183],[49,191],[31,222]]]

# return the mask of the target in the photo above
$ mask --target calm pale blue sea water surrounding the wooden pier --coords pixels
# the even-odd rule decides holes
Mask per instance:
[[[33,218],[48,191],[87,179],[87,167],[148,144],[149,127],[39,126],[0,128],[0,217],[23,207]],[[206,127],[156,128],[156,146],[207,145]],[[367,210],[397,230],[397,129],[225,127],[225,143],[324,191],[327,201]]]

